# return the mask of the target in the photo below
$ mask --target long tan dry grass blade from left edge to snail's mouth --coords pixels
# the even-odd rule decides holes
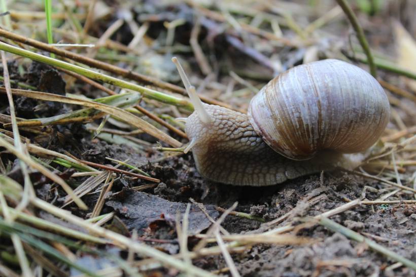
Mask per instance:
[[[0,92],[5,92],[4,88],[0,88]],[[56,94],[52,94],[52,93],[45,93],[45,92],[39,92],[39,91],[27,91],[27,90],[17,90],[17,89],[13,89],[12,90],[14,95],[18,95],[18,96],[25,96],[28,98],[34,98],[34,99],[39,99],[39,100],[44,100],[44,101],[55,101],[55,102],[61,102],[61,103],[67,103],[67,104],[76,104],[76,105],[82,105],[82,106],[87,106],[90,108],[94,108],[103,112],[106,112],[108,114],[111,114],[113,116],[116,116],[118,118],[120,118],[120,120],[138,128],[143,130],[144,132],[148,133],[149,135],[163,141],[166,142],[167,144],[174,146],[174,147],[179,147],[182,145],[181,142],[177,141],[176,139],[166,135],[165,133],[163,133],[162,131],[160,131],[159,129],[157,129],[156,127],[154,127],[153,125],[150,125],[149,123],[147,123],[146,121],[142,120],[142,118],[137,117],[131,113],[129,113],[128,111],[125,111],[123,109],[117,108],[117,107],[112,107],[112,106],[108,106],[105,104],[101,104],[101,103],[97,103],[97,102],[93,102],[93,101],[88,101],[88,100],[84,100],[84,99],[75,99],[75,98],[70,98],[70,97],[66,97],[66,96],[62,96],[62,95],[56,95]]]

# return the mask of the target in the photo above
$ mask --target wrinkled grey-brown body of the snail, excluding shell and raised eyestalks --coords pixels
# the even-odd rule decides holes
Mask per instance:
[[[256,134],[247,114],[203,104],[211,117],[204,124],[196,112],[186,120],[185,131],[195,141],[192,153],[202,177],[225,184],[267,186],[303,175],[359,164],[351,156],[325,152],[308,161],[293,161],[273,151]]]

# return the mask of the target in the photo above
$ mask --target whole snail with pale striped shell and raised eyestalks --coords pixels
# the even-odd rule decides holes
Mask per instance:
[[[354,169],[383,133],[390,105],[363,69],[335,59],[281,73],[250,102],[248,114],[202,103],[177,58],[195,111],[185,132],[206,179],[268,186],[337,167]],[[352,154],[355,153],[355,154]]]

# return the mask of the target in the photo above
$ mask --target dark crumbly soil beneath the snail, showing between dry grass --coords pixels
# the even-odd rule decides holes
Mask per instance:
[[[151,10],[151,5],[149,5],[142,7],[143,10],[140,12],[145,13],[146,9],[149,12]],[[115,5],[114,7],[118,6]],[[162,9],[162,6],[155,7],[156,10]],[[179,10],[178,13],[183,12],[185,15],[191,13],[189,9],[189,7],[174,8],[175,12]],[[157,13],[157,11],[153,12]],[[170,15],[169,10],[165,10],[161,15],[168,17]],[[365,22],[370,44],[377,45],[388,52],[389,49],[394,49],[392,42],[389,41],[392,33],[391,28],[389,26],[374,27],[382,22],[383,16],[387,15],[388,12],[383,11],[374,17],[366,17],[366,15],[361,14],[359,18]],[[394,17],[390,14],[389,16]],[[91,33],[102,33],[103,30],[106,30],[110,21],[101,21],[99,25],[91,30]],[[160,31],[158,28],[162,28],[160,22],[151,25],[148,32],[151,37],[157,37],[157,33]],[[402,23],[405,24],[406,22],[404,20]],[[205,24],[208,23],[205,22]],[[207,35],[206,25],[204,26],[202,37]],[[410,26],[410,24],[405,24],[405,26]],[[181,34],[184,33],[184,30],[189,33],[190,27],[184,25],[177,30],[178,41],[181,41],[181,39],[186,41],[189,38],[184,37],[186,35],[181,36]],[[342,30],[343,35],[348,35],[349,32],[345,22],[340,26],[328,26],[326,30],[328,32],[332,31],[332,34]],[[125,35],[122,30],[119,32],[114,39],[120,43],[128,43],[131,34]],[[241,60],[247,58],[246,55],[226,43],[226,36],[216,38],[214,50],[211,50],[217,55],[218,59],[230,59],[231,63],[235,63],[234,68],[238,67]],[[296,52],[290,48],[283,49],[279,55],[283,57],[285,52],[288,53],[288,57],[284,58],[288,62],[287,64],[296,64],[301,61],[296,57]],[[190,66],[195,67],[194,58],[189,56],[188,58]],[[123,63],[120,62],[119,65],[123,66]],[[64,95],[65,92],[79,93],[93,98],[104,96],[102,92],[79,81],[74,82],[72,80],[72,86],[68,88],[67,76],[44,64],[30,63],[25,67],[26,73],[23,75],[18,73],[18,63],[11,61],[8,67],[12,80],[34,86],[39,91],[60,95]],[[265,72],[266,75],[271,74],[269,70],[265,70]],[[405,87],[401,83],[401,79],[395,74],[381,71],[380,75],[385,80]],[[178,80],[172,82],[178,82]],[[19,88],[16,85],[12,85],[12,87]],[[408,99],[401,98],[401,100],[403,100],[403,106],[407,107],[408,110],[403,110],[401,107],[395,107],[395,110],[406,126],[414,126],[416,123],[414,121],[416,105]],[[0,103],[7,103],[5,95],[0,95]],[[15,97],[14,103],[16,105],[16,115],[22,118],[53,116],[79,108],[74,105],[56,102],[45,103],[25,97]],[[236,100],[232,104],[244,108],[247,102],[241,104]],[[4,108],[2,113],[9,114],[10,111]],[[96,123],[99,124],[99,122]],[[393,121],[389,128],[394,129],[395,126]],[[250,214],[253,218],[228,215],[222,226],[232,234],[255,234],[269,228],[295,223],[302,226],[295,230],[297,235],[315,240],[313,243],[298,246],[255,244],[245,251],[234,253],[232,259],[242,276],[416,276],[416,272],[404,266],[398,265],[389,268],[395,262],[385,255],[369,249],[366,244],[352,241],[342,234],[334,233],[319,224],[305,224],[302,221],[304,218],[320,215],[348,201],[356,199],[378,200],[380,196],[395,190],[395,188],[379,181],[335,171],[305,176],[270,187],[230,186],[203,179],[195,168],[191,153],[168,156],[166,152],[148,146],[137,150],[129,145],[107,142],[100,138],[93,138],[91,131],[84,124],[45,126],[40,130],[41,132],[34,133],[23,129],[21,135],[30,139],[32,143],[37,143],[47,149],[61,153],[71,153],[79,159],[96,164],[114,166],[106,157],[119,161],[128,160],[129,164],[144,170],[154,178],[160,179],[160,183],[149,184],[144,180],[132,180],[128,176],[120,175],[119,178],[115,179],[111,192],[107,195],[102,214],[115,212],[116,216],[112,222],[107,224],[108,228],[117,230],[127,236],[131,236],[134,232],[138,238],[148,245],[165,253],[172,255],[179,253],[175,217],[177,211],[180,211],[181,215],[185,212],[186,204],[190,202],[190,199],[193,199],[196,203],[202,203],[207,213],[214,220],[217,220],[222,214],[218,211],[218,207],[227,209],[238,202],[236,211]],[[169,134],[184,143],[187,142],[172,132],[169,132]],[[146,134],[136,135],[136,138],[150,143],[156,142],[154,138]],[[2,154],[1,157],[5,164],[8,161],[12,163],[12,170],[8,176],[19,183],[23,183],[23,177],[15,157],[10,154]],[[70,176],[70,173],[75,172],[73,169],[66,169],[59,165],[53,165],[53,167],[63,172],[63,176]],[[403,172],[403,176],[407,178],[406,180],[410,180],[409,176],[413,171],[414,168],[406,168],[406,171]],[[63,204],[66,195],[63,190],[53,186],[50,180],[40,176],[37,172],[32,172],[31,178],[36,184],[38,197],[56,206]],[[66,181],[75,186],[81,184],[87,178],[68,177]],[[395,181],[394,178],[393,181]],[[136,189],[136,187],[145,184],[149,184],[149,186]],[[99,193],[95,191],[83,197],[83,201],[89,207],[88,211],[81,211],[74,204],[67,206],[65,209],[86,218],[88,213],[92,212],[98,195]],[[320,201],[308,202],[308,200],[317,196],[320,196]],[[388,200],[414,200],[414,194],[401,190],[389,197]],[[288,213],[289,216],[284,220],[272,227],[267,227],[267,222]],[[40,214],[39,216],[51,221],[56,220],[47,214]],[[262,218],[265,222],[256,220],[256,218]],[[415,204],[360,205],[332,216],[331,219],[398,255],[416,261]],[[56,222],[63,224],[62,221]],[[211,222],[193,204],[189,218],[190,237],[188,248],[190,250],[199,241],[197,234],[204,233],[210,225]],[[107,247],[109,251],[115,251],[114,253],[125,258],[125,251],[119,251],[114,246]],[[91,267],[97,266],[99,268],[102,266],[97,257],[93,258],[94,262],[97,263],[93,265],[94,262],[87,260],[87,256],[79,257],[79,262]],[[136,260],[140,261],[141,258],[136,257]],[[193,264],[214,272],[228,267],[221,255],[199,257],[193,260]],[[72,273],[76,273],[76,271],[72,271]],[[149,276],[178,274],[175,270],[163,268],[150,269],[144,273]],[[230,274],[227,270],[220,273]]]

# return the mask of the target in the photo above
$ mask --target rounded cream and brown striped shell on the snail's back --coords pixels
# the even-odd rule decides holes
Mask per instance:
[[[325,149],[367,149],[386,128],[390,105],[369,73],[328,59],[273,78],[251,100],[248,114],[256,133],[276,152],[306,160]]]

